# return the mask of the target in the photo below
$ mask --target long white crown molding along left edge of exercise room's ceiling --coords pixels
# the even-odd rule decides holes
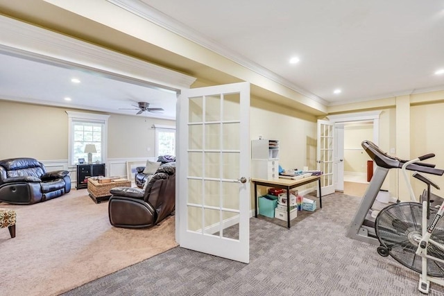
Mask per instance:
[[[106,0],[106,1],[116,6],[119,6],[120,8],[127,10],[128,12],[131,12],[134,15],[137,15],[138,17],[142,17],[147,21],[151,21],[153,24],[161,26],[162,28],[171,31],[179,35],[180,37],[184,37],[187,40],[199,44],[200,46],[203,46],[206,49],[209,49],[210,51],[214,51],[215,53],[218,53],[219,55],[222,55],[223,57],[228,58],[229,60],[232,60],[237,64],[240,64],[242,67],[245,67],[250,71],[253,71],[261,76],[264,76],[265,78],[273,80],[274,82],[278,82],[280,85],[283,85],[284,87],[293,89],[294,91],[304,96],[307,96],[307,98],[310,98],[323,105],[328,104],[328,102],[325,101],[323,98],[320,98],[315,94],[312,94],[311,92],[307,91],[307,89],[298,87],[289,80],[282,78],[282,76],[278,76],[276,73],[260,66],[259,64],[251,60],[248,60],[244,56],[239,55],[238,53],[234,53],[234,51],[231,51],[230,49],[225,48],[221,44],[214,42],[209,37],[206,37],[195,31],[194,29],[189,28],[189,26],[182,24],[180,21],[177,21],[176,19],[173,19],[172,17],[165,15],[163,12],[156,10],[155,8],[149,6],[143,1],[139,0]]]

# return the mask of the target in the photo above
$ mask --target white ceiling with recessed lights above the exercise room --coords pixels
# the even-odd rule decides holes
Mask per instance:
[[[444,89],[442,0],[141,1],[327,105]]]

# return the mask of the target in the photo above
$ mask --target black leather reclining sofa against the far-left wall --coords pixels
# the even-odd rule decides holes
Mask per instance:
[[[71,191],[68,171],[46,172],[33,158],[0,160],[0,202],[35,204]]]

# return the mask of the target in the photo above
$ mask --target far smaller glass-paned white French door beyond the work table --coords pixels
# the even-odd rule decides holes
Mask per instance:
[[[323,175],[321,175],[322,195],[334,193],[333,128],[334,123],[325,120],[318,120],[318,146],[316,162],[318,164],[318,170],[323,171]]]

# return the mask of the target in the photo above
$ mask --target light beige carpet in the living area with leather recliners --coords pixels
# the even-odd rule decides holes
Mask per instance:
[[[112,227],[108,202],[95,204],[87,190],[17,211],[16,237],[0,229],[0,295],[59,295],[165,252],[177,243],[174,216],[148,229]]]

